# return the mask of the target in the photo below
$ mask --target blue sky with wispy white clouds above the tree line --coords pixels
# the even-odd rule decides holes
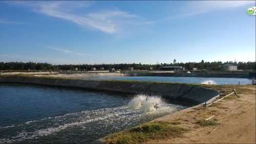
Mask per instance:
[[[255,61],[255,1],[0,1],[0,61]]]

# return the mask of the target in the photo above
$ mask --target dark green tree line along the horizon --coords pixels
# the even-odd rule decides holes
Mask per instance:
[[[182,66],[185,69],[192,70],[194,67],[205,70],[221,70],[221,66],[225,64],[237,65],[238,69],[255,69],[255,62],[173,62],[173,63],[158,63],[158,64],[141,64],[141,63],[119,63],[119,64],[51,64],[39,62],[0,62],[0,70],[74,70],[76,67],[79,70],[90,70],[92,67],[97,69],[104,67],[104,69],[121,69],[125,70],[129,67],[134,69],[146,70],[151,67],[154,70],[159,70],[163,66]]]

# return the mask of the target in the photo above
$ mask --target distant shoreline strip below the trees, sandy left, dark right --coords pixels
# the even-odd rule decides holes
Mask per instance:
[[[201,77],[201,78],[247,78],[255,77],[254,73],[242,71],[120,71],[119,73],[110,73],[108,71],[9,71],[0,73],[4,75],[73,75],[73,74],[88,74],[88,75],[109,75],[109,76],[152,76],[152,77]]]

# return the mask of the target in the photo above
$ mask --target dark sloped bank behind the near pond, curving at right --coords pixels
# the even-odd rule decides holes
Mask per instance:
[[[48,86],[81,88],[97,91],[145,93],[161,95],[167,99],[185,100],[191,105],[209,102],[219,95],[219,92],[202,85],[182,83],[159,83],[137,81],[94,81],[65,78],[38,78],[29,76],[1,76],[2,83],[26,83]]]

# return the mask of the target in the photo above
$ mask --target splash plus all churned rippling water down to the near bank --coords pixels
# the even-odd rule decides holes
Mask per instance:
[[[67,113],[55,117],[34,119],[9,127],[0,127],[0,133],[7,130],[17,132],[9,136],[0,136],[0,143],[29,142],[24,140],[41,143],[44,141],[40,140],[44,140],[44,138],[40,139],[40,137],[46,136],[57,139],[55,143],[61,143],[67,141],[61,141],[62,139],[56,135],[65,135],[65,140],[67,140],[69,134],[72,137],[73,133],[82,134],[81,140],[87,139],[86,142],[92,142],[110,132],[148,122],[183,108],[183,106],[165,103],[159,96],[138,94],[129,104],[121,107]],[[56,133],[55,136],[54,133]],[[71,140],[68,142],[72,142],[72,139],[68,140]]]

